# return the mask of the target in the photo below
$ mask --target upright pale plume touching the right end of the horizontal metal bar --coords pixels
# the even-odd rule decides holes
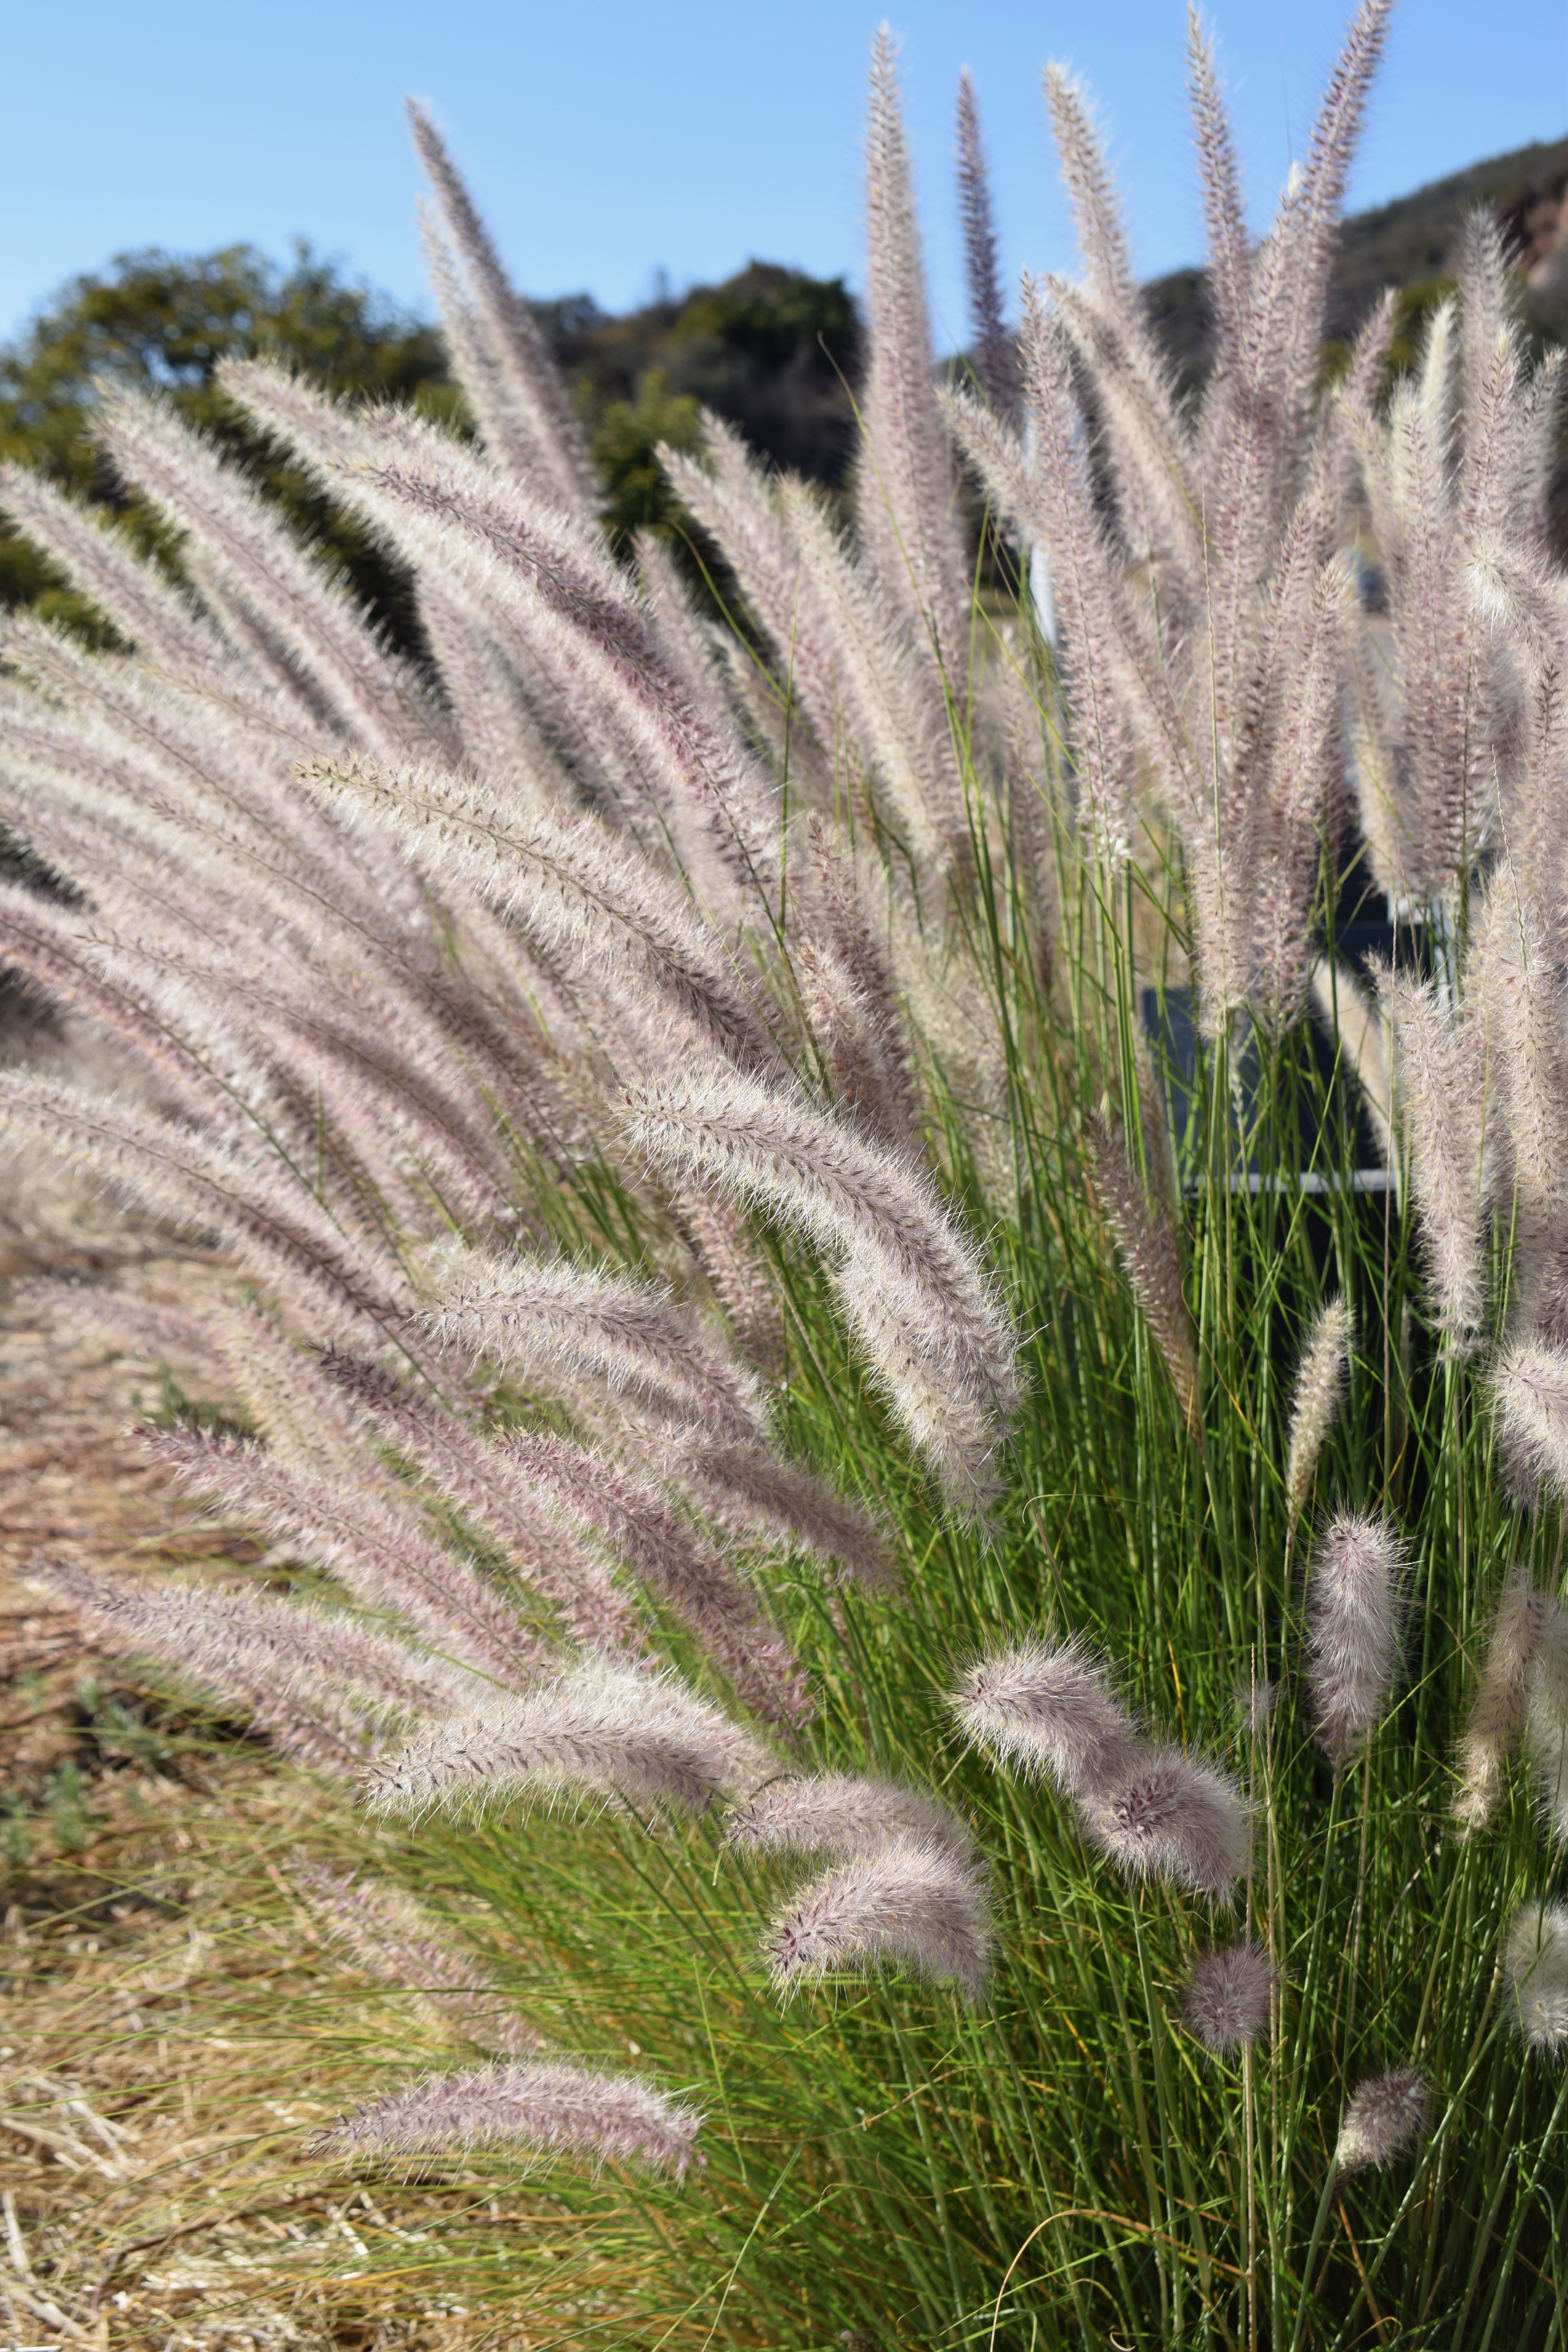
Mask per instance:
[[[1443,1004],[1432,981],[1378,971],[1394,1023],[1399,1108],[1420,1209],[1432,1305],[1450,1348],[1474,1343],[1486,1310],[1488,1056],[1476,1007]]]

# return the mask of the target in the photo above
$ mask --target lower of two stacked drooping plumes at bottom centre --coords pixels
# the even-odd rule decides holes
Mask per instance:
[[[780,1992],[891,1962],[978,2002],[990,1971],[985,1872],[950,1846],[891,1837],[797,1889],[766,1955]]]

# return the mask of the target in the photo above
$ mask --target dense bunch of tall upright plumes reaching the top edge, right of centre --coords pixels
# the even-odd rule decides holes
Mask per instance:
[[[1319,405],[1316,367],[1385,16],[1385,0],[1359,9],[1262,242],[1194,19],[1218,343],[1197,409],[1159,355],[1084,94],[1051,71],[1084,280],[1025,287],[1023,428],[973,395],[952,402],[987,492],[1048,557],[1081,837],[1114,868],[1133,847],[1135,786],[1157,788],[1182,844],[1215,1033],[1244,1004],[1269,1025],[1300,1014],[1324,840],[1338,830],[1354,623],[1347,461],[1352,419],[1380,386],[1389,310],[1363,332],[1340,400]]]

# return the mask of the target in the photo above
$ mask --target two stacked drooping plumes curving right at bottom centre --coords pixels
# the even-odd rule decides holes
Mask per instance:
[[[990,1966],[985,1872],[969,1828],[933,1797],[851,1773],[771,1780],[731,1813],[729,1844],[832,1858],[769,1931],[780,1990],[891,1964],[978,1999]]]

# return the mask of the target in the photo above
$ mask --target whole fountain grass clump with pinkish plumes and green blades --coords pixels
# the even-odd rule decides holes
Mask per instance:
[[[705,416],[630,553],[416,113],[454,421],[221,369],[416,654],[155,395],[176,560],[0,485],[113,623],[0,623],[0,953],[120,1065],[0,1120],[221,1247],[52,1298],[256,1559],[66,1590],[308,1776],[280,2197],[522,2180],[496,2340],[1554,2340],[1561,369],[1486,219],[1326,355],[1385,21],[1262,235],[1192,24],[1187,390],[1058,71],[938,381],[879,38],[849,480]]]

